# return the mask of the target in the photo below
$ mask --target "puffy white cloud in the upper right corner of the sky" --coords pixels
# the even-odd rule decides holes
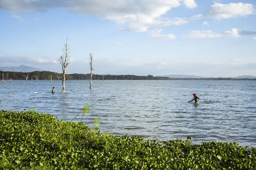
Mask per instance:
[[[194,15],[192,19],[212,18],[216,20],[235,18],[254,14],[253,4],[249,3],[214,3],[206,14]]]

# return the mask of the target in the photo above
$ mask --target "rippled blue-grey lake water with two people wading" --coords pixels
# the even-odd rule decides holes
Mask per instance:
[[[84,105],[84,123],[144,139],[238,142],[256,147],[256,81],[116,80],[0,82],[0,110],[26,109],[70,121]],[[51,94],[55,87],[55,94]],[[196,92],[200,102],[189,103]],[[32,97],[32,100],[31,100]],[[75,121],[79,121],[81,116]]]

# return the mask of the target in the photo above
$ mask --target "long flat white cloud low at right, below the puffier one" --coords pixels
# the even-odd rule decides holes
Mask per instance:
[[[213,32],[211,30],[190,31],[188,35],[183,35],[186,38],[218,38],[223,36],[240,37],[239,29],[232,28],[230,31]]]

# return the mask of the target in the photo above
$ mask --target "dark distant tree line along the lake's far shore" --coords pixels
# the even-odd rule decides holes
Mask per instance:
[[[56,73],[51,71],[33,71],[33,72],[11,72],[1,71],[1,78],[4,80],[62,80],[62,73]],[[2,77],[3,75],[3,77]],[[67,80],[89,80],[90,74],[66,74]],[[136,75],[98,75],[93,74],[93,80],[256,80],[249,78],[170,78],[170,77],[154,77],[148,76],[136,76]]]

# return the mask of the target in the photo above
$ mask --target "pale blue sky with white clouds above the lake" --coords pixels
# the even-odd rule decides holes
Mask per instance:
[[[0,67],[256,76],[256,0],[0,0]]]

